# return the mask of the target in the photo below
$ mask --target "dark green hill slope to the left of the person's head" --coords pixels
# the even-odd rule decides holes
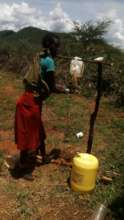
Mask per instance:
[[[17,32],[0,31],[0,68],[23,72],[32,54],[41,50],[42,37],[48,31],[26,27]]]

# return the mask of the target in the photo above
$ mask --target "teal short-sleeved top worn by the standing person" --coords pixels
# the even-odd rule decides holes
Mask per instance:
[[[46,79],[50,71],[55,71],[55,63],[52,57],[42,57],[40,59],[40,73],[43,80]]]

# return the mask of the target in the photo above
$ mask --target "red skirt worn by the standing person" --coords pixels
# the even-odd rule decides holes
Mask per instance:
[[[41,120],[42,102],[31,92],[17,100],[15,113],[15,142],[19,150],[35,150],[46,138]]]

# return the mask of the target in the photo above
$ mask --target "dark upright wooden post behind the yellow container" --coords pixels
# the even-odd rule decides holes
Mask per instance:
[[[102,63],[98,63],[98,77],[97,77],[97,96],[96,96],[96,103],[94,112],[91,114],[90,117],[90,127],[89,127],[89,137],[88,137],[88,144],[87,144],[87,153],[91,153],[92,150],[92,143],[93,143],[93,136],[94,136],[94,125],[99,109],[100,99],[102,95]]]

